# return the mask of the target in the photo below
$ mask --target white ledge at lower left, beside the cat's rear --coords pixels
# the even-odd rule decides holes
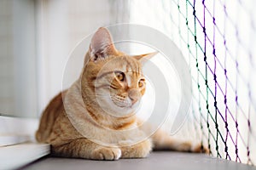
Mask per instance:
[[[49,144],[38,144],[38,119],[0,116],[0,169],[16,169],[49,154]],[[25,143],[26,142],[26,143]]]

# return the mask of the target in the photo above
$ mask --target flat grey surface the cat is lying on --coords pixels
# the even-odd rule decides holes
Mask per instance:
[[[218,170],[236,170],[236,169],[255,169],[256,167],[237,163],[234,161],[227,161],[223,159],[214,158],[204,154],[155,151],[147,158],[143,159],[120,159],[118,161],[91,161],[84,159],[69,159],[58,157],[45,157],[36,161],[22,170],[30,169],[104,169],[104,170],[137,170],[137,169],[218,169]]]

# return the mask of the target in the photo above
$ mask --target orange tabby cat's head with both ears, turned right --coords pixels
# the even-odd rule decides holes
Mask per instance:
[[[96,99],[102,110],[115,116],[130,114],[146,89],[142,61],[154,54],[129,56],[119,52],[109,31],[98,29],[86,54],[88,61],[82,74],[82,87],[86,84],[84,95],[87,99]]]

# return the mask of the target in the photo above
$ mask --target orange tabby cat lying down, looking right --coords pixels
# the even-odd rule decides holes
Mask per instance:
[[[141,61],[152,55],[121,53],[106,28],[96,31],[79,80],[46,107],[36,134],[38,142],[51,144],[55,156],[93,160],[140,158],[152,149],[205,151],[200,144],[192,147],[161,130],[131,142],[147,131],[140,127],[134,111],[146,88]]]

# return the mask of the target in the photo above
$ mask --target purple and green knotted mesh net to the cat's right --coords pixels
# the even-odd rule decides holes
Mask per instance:
[[[190,66],[195,130],[213,156],[255,165],[256,2],[162,4]]]

